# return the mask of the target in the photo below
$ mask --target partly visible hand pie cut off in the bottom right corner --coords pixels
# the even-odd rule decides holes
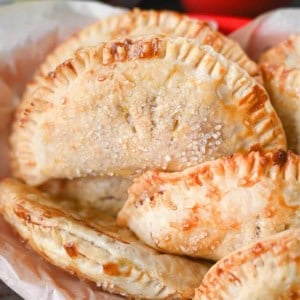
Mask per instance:
[[[300,299],[300,230],[287,230],[217,262],[195,300]]]

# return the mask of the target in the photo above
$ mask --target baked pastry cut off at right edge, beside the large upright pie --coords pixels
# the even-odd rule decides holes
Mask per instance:
[[[260,58],[265,87],[282,120],[288,146],[300,154],[300,35],[268,50]]]

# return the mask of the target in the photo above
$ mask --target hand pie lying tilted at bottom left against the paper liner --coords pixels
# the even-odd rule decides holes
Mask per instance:
[[[209,264],[161,254],[95,210],[66,208],[44,193],[7,179],[0,210],[52,264],[97,283],[105,291],[143,299],[190,299]]]

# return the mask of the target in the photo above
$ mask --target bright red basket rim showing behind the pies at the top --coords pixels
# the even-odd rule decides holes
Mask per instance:
[[[189,14],[189,16],[195,19],[217,22],[219,31],[224,34],[229,34],[232,31],[235,31],[240,27],[247,25],[251,21],[251,19],[249,18],[227,17],[218,15]]]

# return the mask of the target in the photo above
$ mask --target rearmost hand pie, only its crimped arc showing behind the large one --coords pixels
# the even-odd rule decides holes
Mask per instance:
[[[199,44],[210,45],[226,58],[238,63],[251,76],[259,77],[258,66],[248,58],[240,45],[214,30],[208,23],[171,11],[134,9],[121,15],[102,19],[58,46],[41,65],[36,79],[53,71],[57,65],[72,57],[78,49],[96,46],[100,42],[108,42],[125,36],[146,34],[196,39]]]

